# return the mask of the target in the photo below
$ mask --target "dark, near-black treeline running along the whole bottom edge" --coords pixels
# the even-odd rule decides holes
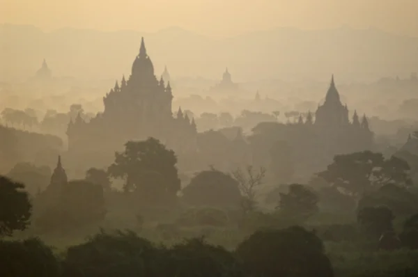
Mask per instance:
[[[258,230],[233,251],[185,239],[153,244],[134,232],[100,232],[86,242],[54,253],[40,239],[0,241],[0,276],[417,276],[418,253],[329,255],[314,232],[300,226]],[[384,263],[382,263],[384,262]]]

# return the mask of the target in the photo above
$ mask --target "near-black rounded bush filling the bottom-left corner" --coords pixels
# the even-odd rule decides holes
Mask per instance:
[[[39,239],[0,241],[0,257],[0,276],[61,276],[59,261],[52,250]]]

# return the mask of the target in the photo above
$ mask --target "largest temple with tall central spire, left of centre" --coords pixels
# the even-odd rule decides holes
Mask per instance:
[[[176,153],[187,152],[195,148],[196,125],[181,109],[173,116],[172,100],[170,82],[165,84],[163,77],[160,80],[155,77],[142,38],[130,76],[127,79],[123,76],[120,83],[116,81],[103,97],[104,111],[89,122],[80,115],[70,121],[68,152],[82,157],[88,156],[86,152],[95,155],[106,152],[107,158],[114,159],[114,151],[121,150],[127,141],[150,136]]]

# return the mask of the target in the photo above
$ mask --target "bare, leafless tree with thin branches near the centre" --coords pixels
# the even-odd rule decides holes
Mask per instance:
[[[254,211],[256,208],[256,188],[264,182],[265,168],[261,167],[256,171],[253,166],[247,166],[245,172],[238,168],[232,174],[238,181],[240,191],[244,196],[242,208],[245,212]]]

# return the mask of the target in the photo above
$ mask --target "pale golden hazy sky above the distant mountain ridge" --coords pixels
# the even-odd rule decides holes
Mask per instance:
[[[293,26],[374,26],[418,36],[418,0],[0,0],[0,24],[157,31],[180,26],[206,35]]]

